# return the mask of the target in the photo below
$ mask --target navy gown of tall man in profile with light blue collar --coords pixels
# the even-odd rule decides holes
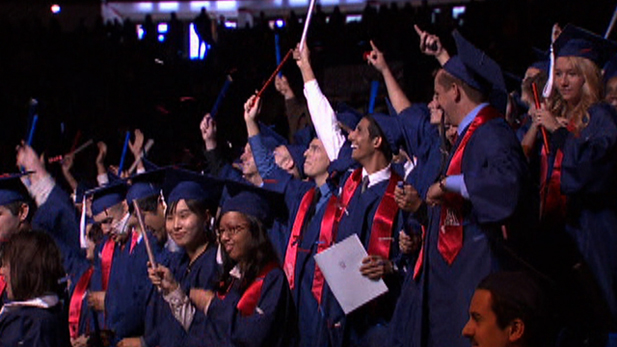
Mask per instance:
[[[468,346],[461,331],[476,286],[491,272],[521,265],[506,256],[503,245],[516,251],[517,241],[532,232],[537,197],[518,139],[503,118],[476,129],[463,154],[462,172],[470,195],[463,206],[462,249],[448,265],[437,249],[440,207],[429,208],[423,268],[417,282],[407,278],[405,295],[412,303],[407,317],[396,315],[397,322],[407,324],[392,332],[393,346]],[[508,241],[502,237],[504,224]]]

